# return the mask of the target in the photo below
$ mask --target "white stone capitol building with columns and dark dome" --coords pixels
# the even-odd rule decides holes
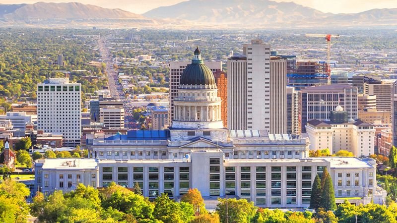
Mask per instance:
[[[138,183],[148,198],[167,193],[178,200],[198,188],[208,204],[228,196],[259,207],[307,208],[312,182],[327,168],[337,203],[385,200],[372,159],[311,158],[306,138],[225,128],[215,79],[199,49],[181,76],[174,112],[167,130],[94,140],[89,159],[37,160],[35,189],[52,193],[73,190],[78,183],[97,188]]]

